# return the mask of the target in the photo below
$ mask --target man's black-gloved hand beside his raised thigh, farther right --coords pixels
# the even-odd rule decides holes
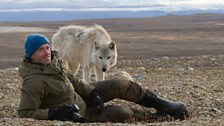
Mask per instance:
[[[101,114],[103,112],[103,100],[95,89],[90,93],[89,99],[87,101],[87,106],[90,108],[94,108],[98,114]]]

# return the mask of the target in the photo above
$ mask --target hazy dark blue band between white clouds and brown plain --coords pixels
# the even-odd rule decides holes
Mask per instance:
[[[224,10],[185,10],[169,13],[165,11],[0,11],[0,22],[64,21],[103,18],[145,18],[164,15],[190,15],[201,13],[224,14]]]

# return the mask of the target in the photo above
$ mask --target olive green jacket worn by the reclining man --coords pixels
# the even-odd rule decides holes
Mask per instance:
[[[86,104],[83,99],[89,97],[93,87],[75,79],[58,59],[57,52],[52,52],[49,65],[23,60],[19,73],[23,78],[19,117],[48,119],[49,108],[66,103],[78,105],[84,116]]]

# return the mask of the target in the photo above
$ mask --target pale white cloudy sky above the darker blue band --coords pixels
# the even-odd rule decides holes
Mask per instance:
[[[113,7],[113,8],[112,8]],[[105,10],[183,10],[222,9],[224,0],[0,0],[0,10],[10,9],[81,9],[83,11]],[[86,9],[88,8],[88,9]],[[109,9],[108,9],[109,8]]]

